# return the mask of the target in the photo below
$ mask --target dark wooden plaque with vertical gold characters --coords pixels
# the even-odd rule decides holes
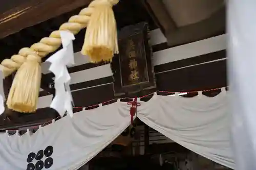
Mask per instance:
[[[112,62],[115,95],[155,88],[147,23],[140,22],[123,28],[118,38],[119,55],[116,55]]]

